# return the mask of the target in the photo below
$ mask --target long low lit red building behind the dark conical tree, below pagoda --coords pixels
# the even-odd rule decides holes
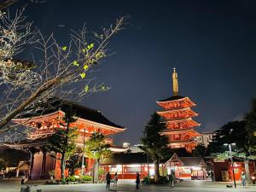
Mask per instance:
[[[147,154],[133,153],[129,150],[125,153],[115,153],[112,157],[102,161],[102,168],[113,175],[117,172],[119,179],[135,179],[137,172],[141,178],[154,177],[154,162]],[[207,164],[199,157],[177,157],[173,154],[170,160],[160,162],[160,176],[175,172],[177,178],[207,179]]]

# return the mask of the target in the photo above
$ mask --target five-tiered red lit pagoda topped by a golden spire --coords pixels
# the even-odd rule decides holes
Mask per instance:
[[[186,148],[191,153],[196,146],[195,137],[201,134],[193,128],[199,126],[192,117],[197,116],[191,107],[195,106],[188,96],[178,95],[177,72],[172,73],[173,96],[157,102],[164,111],[158,112],[165,119],[166,131],[162,134],[169,137],[171,148]]]

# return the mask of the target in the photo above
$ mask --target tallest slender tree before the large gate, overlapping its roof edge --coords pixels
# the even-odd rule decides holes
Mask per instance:
[[[47,149],[55,152],[53,155],[55,159],[61,160],[61,181],[65,182],[66,160],[74,153],[76,149],[75,141],[79,134],[77,128],[70,126],[76,121],[72,110],[66,111],[63,121],[61,125],[64,128],[56,129],[55,133],[49,137]],[[61,157],[58,154],[61,154]]]

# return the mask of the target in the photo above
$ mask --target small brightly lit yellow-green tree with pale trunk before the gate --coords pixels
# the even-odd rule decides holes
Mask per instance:
[[[102,160],[112,155],[112,152],[108,149],[109,147],[110,145],[106,143],[105,136],[100,132],[92,133],[90,139],[85,142],[85,154],[90,159],[95,160],[93,166],[93,182],[98,180],[98,171]]]

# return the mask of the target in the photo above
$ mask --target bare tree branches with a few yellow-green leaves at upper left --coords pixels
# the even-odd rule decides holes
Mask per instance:
[[[11,119],[26,110],[36,110],[38,103],[49,98],[78,100],[108,90],[94,82],[90,69],[110,54],[109,40],[125,23],[125,17],[120,17],[100,34],[87,32],[84,26],[72,30],[68,44],[59,44],[53,34],[44,37],[33,30],[23,11],[14,17],[0,12],[0,132],[14,129],[9,126]],[[39,56],[32,62],[15,60],[27,45],[35,46]]]

